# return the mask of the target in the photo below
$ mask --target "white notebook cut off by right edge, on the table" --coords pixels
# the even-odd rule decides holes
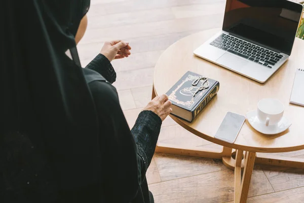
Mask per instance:
[[[304,107],[304,69],[296,70],[289,103]]]

